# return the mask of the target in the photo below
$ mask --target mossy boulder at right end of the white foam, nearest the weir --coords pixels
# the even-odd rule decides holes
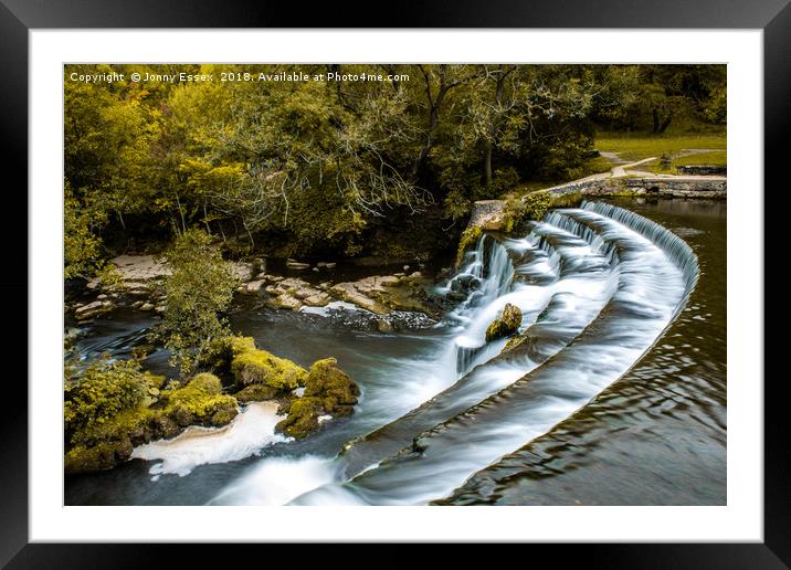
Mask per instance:
[[[302,440],[318,431],[323,415],[350,415],[359,395],[360,389],[335,358],[317,360],[305,379],[305,393],[281,407],[286,418],[275,429]]]

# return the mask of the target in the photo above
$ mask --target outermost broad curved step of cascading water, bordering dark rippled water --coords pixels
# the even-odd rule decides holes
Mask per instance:
[[[547,226],[607,250],[616,264],[618,286],[601,314],[565,349],[498,393],[425,430],[351,482],[324,486],[294,504],[425,504],[446,496],[621,377],[661,336],[696,282],[688,246],[625,210],[587,203],[551,212],[539,233]]]

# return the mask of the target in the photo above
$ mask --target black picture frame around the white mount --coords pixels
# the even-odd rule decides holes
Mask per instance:
[[[764,172],[781,180],[784,138],[791,117],[791,6],[789,0],[566,0],[535,2],[518,0],[462,0],[455,2],[399,3],[383,7],[375,17],[370,3],[321,3],[306,9],[293,2],[231,0],[0,0],[0,113],[2,113],[2,161],[4,170],[20,176],[13,193],[14,212],[27,212],[28,163],[28,33],[32,29],[95,28],[667,28],[761,29],[764,63]],[[766,193],[764,193],[766,196]],[[10,211],[10,210],[9,210]],[[767,220],[768,222],[768,220]],[[768,224],[764,224],[764,228]],[[27,217],[6,215],[6,243],[28,235]],[[769,246],[769,242],[764,239]],[[9,252],[8,263],[17,276],[0,287],[7,299],[28,298],[28,251]],[[766,253],[764,253],[766,255]],[[769,258],[764,256],[764,258]],[[25,271],[23,271],[25,270]],[[54,286],[53,286],[54,289]],[[764,294],[768,289],[764,291]],[[10,305],[13,305],[11,303]],[[9,307],[14,323],[27,323],[27,307]],[[13,310],[19,312],[14,315]],[[22,313],[25,312],[25,315]],[[14,330],[25,342],[27,325]],[[22,340],[24,339],[24,340]],[[34,341],[34,339],[30,339]],[[9,347],[10,348],[10,347]],[[22,353],[19,347],[17,355]],[[771,353],[771,352],[770,352]],[[21,358],[20,358],[21,360]],[[42,545],[28,540],[28,390],[27,365],[7,377],[3,398],[13,401],[0,414],[3,446],[0,454],[0,564],[8,568],[141,568],[165,563],[165,546],[137,545]],[[607,568],[789,568],[791,566],[791,469],[785,461],[789,429],[783,422],[782,377],[764,383],[764,541],[716,545],[576,545],[553,549],[558,560],[579,559],[588,566]],[[760,379],[749,379],[758,386]],[[24,402],[24,405],[22,404]],[[201,560],[204,567],[215,553],[234,549],[190,545],[179,552],[181,563]],[[262,548],[272,548],[264,546]],[[294,547],[292,547],[294,548]],[[546,549],[530,545],[520,549]],[[557,552],[561,550],[561,552]],[[457,552],[465,556],[466,549]],[[349,556],[339,548],[325,551],[328,558]],[[335,552],[338,552],[337,555]],[[350,556],[355,556],[351,553]],[[393,550],[388,563],[412,563],[411,549]],[[330,558],[330,559],[331,559]],[[354,566],[354,564],[350,564]]]

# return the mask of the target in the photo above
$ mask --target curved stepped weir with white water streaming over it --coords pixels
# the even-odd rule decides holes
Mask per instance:
[[[605,203],[549,212],[520,240],[484,235],[445,286],[477,279],[445,323],[453,328],[442,361],[455,360],[455,374],[444,389],[339,457],[264,460],[212,503],[398,505],[447,496],[627,371],[683,308],[697,273],[683,240]],[[505,340],[487,344],[484,332],[506,303],[524,320],[521,341],[503,350]],[[300,483],[268,496],[267,482],[287,474]]]

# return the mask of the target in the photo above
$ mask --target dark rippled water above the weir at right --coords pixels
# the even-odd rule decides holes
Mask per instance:
[[[439,504],[726,504],[726,202],[620,204],[693,247],[686,308],[620,381]]]

